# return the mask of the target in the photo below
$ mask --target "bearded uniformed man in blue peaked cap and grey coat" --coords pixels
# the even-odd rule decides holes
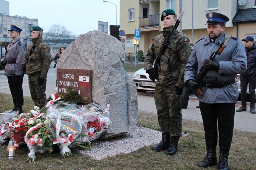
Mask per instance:
[[[209,57],[220,44],[225,42],[226,22],[229,18],[217,12],[206,15],[208,37],[203,38],[194,46],[194,49],[185,66],[185,85],[191,89],[200,87],[203,92],[198,96],[207,154],[199,167],[217,165],[216,147],[218,143],[220,156],[218,169],[228,170],[228,156],[233,138],[235,104],[238,99],[237,83],[235,78],[246,70],[247,58],[242,42],[231,38],[227,47],[214,60]],[[201,67],[208,69],[200,84],[194,79]]]

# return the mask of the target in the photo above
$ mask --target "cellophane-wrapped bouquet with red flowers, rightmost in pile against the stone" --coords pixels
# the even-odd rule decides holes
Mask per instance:
[[[111,127],[108,107],[109,105],[104,110],[100,105],[91,103],[81,108],[85,134],[88,135],[89,141],[99,138],[107,128]]]

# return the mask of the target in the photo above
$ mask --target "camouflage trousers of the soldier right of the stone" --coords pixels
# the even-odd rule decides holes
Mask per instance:
[[[179,136],[182,132],[183,95],[176,94],[174,84],[163,86],[156,83],[154,96],[160,131]]]

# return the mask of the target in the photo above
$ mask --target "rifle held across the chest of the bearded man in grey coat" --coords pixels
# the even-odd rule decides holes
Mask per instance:
[[[211,54],[211,56],[209,57],[210,60],[214,60],[217,55],[221,55],[221,53],[223,52],[224,48],[226,47],[226,45],[228,44],[229,40],[231,39],[231,37],[232,37],[232,34],[230,34],[230,36],[226,39],[225,42],[223,41],[223,42],[220,44],[220,47],[217,48],[216,51],[213,52],[213,53]],[[195,77],[195,82],[196,82],[197,84],[199,84],[199,83],[201,82],[202,77],[205,76],[205,74],[207,73],[207,71],[208,71],[207,68],[205,68],[204,66],[201,67],[200,72],[199,72],[199,73],[196,75],[196,77]],[[196,90],[197,90],[197,92],[199,93],[200,96],[203,95],[203,93],[202,93],[202,91],[201,91],[201,89],[200,89],[199,87],[198,87]]]

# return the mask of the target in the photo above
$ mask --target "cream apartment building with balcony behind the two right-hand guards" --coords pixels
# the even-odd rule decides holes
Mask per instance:
[[[196,43],[208,36],[205,25],[208,12],[219,12],[230,18],[226,23],[226,35],[233,33],[240,39],[251,35],[256,40],[256,0],[120,0],[120,30],[125,31],[125,52],[135,51],[131,42],[138,29],[137,50],[146,54],[154,37],[163,30],[161,12],[167,8],[174,9],[177,16],[184,10],[182,33],[190,42]]]

